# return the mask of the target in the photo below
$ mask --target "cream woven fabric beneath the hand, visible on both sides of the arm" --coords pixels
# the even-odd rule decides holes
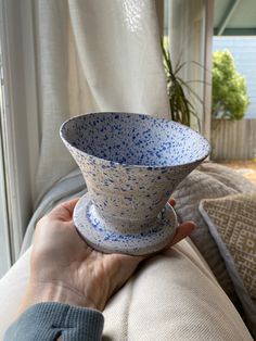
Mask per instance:
[[[0,338],[15,317],[30,249],[0,281]],[[104,311],[103,340],[253,340],[188,240],[145,262]]]

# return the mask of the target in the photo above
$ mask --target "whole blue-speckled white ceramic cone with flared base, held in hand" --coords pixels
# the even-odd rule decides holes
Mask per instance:
[[[177,226],[166,204],[175,188],[209,153],[194,130],[164,118],[91,113],[61,127],[85,177],[76,227],[103,252],[146,254],[164,248]]]

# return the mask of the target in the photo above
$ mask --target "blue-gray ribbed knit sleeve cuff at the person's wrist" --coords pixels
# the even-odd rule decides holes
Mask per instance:
[[[25,311],[7,330],[4,341],[101,340],[104,318],[94,310],[62,303],[39,303]]]

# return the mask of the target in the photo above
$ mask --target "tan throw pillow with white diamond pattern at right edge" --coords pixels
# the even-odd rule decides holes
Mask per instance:
[[[249,326],[256,329],[256,193],[202,200],[200,212],[218,244]]]

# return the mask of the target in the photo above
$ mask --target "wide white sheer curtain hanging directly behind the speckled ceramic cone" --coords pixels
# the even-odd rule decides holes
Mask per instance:
[[[59,138],[72,115],[144,112],[168,117],[155,2],[34,2],[40,154],[35,198],[75,164]]]

